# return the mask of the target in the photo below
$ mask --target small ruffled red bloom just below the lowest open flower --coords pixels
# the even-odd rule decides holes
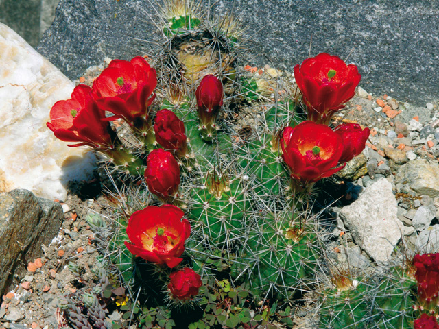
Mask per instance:
[[[171,273],[169,279],[171,281],[167,287],[172,297],[178,300],[190,300],[198,295],[198,289],[202,286],[200,275],[188,267]]]

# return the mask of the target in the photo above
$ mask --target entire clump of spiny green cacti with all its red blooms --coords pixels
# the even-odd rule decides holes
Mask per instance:
[[[322,261],[313,185],[369,135],[330,126],[355,94],[357,67],[322,53],[294,68],[296,88],[270,67],[242,67],[230,17],[211,21],[193,2],[171,0],[161,21],[165,46],[149,63],[113,60],[92,88],[56,103],[48,123],[103,154],[123,181],[108,195],[112,226],[88,222],[132,296],[126,314],[146,328],[292,326],[288,304],[311,289],[321,328],[410,328],[418,310],[435,313],[439,286],[419,283],[416,304],[412,264],[370,275]],[[239,125],[248,109],[251,124]],[[96,296],[84,295],[88,317],[70,308],[78,328],[106,326]],[[180,313],[187,323],[174,321]]]

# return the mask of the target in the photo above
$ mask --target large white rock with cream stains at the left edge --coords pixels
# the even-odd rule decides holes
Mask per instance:
[[[69,180],[91,177],[95,155],[67,147],[46,127],[51,106],[74,84],[0,23],[0,192],[26,188],[65,199]]]

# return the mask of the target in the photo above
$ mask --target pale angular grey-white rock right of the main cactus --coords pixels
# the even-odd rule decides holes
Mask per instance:
[[[403,232],[397,213],[392,184],[383,178],[342,208],[340,217],[361,249],[375,261],[386,262]]]

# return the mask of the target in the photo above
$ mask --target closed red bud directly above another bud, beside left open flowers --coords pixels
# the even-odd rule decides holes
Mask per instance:
[[[185,124],[174,112],[166,109],[158,111],[154,132],[156,132],[156,141],[164,149],[186,153]]]

